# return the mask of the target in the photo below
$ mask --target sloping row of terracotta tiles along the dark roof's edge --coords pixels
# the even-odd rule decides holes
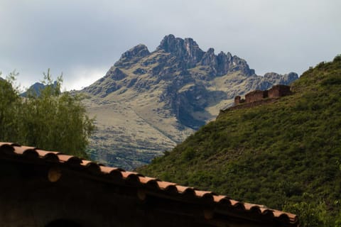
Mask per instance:
[[[61,165],[82,167],[85,170],[90,170],[90,172],[100,173],[102,175],[113,175],[124,181],[132,181],[136,184],[146,186],[149,185],[156,190],[164,192],[170,190],[173,194],[189,194],[192,199],[202,198],[207,199],[207,202],[213,204],[227,204],[232,210],[254,211],[255,214],[276,218],[276,220],[290,224],[291,226],[297,226],[298,224],[298,218],[295,214],[271,210],[262,205],[242,203],[240,201],[229,199],[227,196],[216,195],[213,192],[200,191],[193,187],[185,187],[173,182],[163,182],[153,177],[144,177],[144,175],[137,172],[124,171],[115,167],[106,167],[90,160],[81,160],[79,157],[72,155],[64,155],[63,153],[55,151],[38,150],[37,148],[20,146],[14,143],[0,142],[0,157],[3,153],[6,155],[14,155],[14,157],[18,155],[29,158],[35,157],[45,161],[59,162]],[[245,216],[247,216],[247,213]]]

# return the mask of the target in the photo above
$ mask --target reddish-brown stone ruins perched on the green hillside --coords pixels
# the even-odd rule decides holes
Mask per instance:
[[[237,106],[242,103],[249,104],[255,101],[261,101],[266,98],[272,99],[281,96],[288,96],[290,94],[291,94],[290,86],[278,84],[271,87],[271,89],[269,90],[265,91],[256,90],[249,92],[245,95],[245,99],[241,99],[240,96],[236,96],[234,98],[234,106]]]

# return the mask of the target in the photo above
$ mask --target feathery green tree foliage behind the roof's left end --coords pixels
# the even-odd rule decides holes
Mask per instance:
[[[45,150],[60,150],[86,157],[93,119],[87,116],[80,96],[60,93],[61,77],[56,83],[44,73],[45,88],[19,96],[16,73],[0,80],[0,141],[31,145]]]

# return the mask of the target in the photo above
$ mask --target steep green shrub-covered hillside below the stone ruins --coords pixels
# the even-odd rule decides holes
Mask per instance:
[[[299,213],[302,226],[337,226],[341,56],[310,68],[291,88],[273,104],[221,113],[139,172]]]

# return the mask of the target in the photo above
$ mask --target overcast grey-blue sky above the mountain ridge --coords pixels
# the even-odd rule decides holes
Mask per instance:
[[[139,43],[193,38],[256,74],[298,72],[341,53],[340,0],[0,0],[0,71],[28,87],[48,68],[66,89],[103,77]]]

